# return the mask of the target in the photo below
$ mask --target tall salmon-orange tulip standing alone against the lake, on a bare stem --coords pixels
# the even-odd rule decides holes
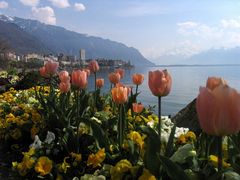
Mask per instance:
[[[167,70],[149,71],[148,86],[155,96],[167,96],[172,87],[172,78]]]

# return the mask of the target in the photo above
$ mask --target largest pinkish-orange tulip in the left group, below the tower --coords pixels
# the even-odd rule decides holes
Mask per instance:
[[[75,70],[72,72],[72,84],[79,87],[80,89],[85,89],[87,87],[87,73],[81,70]]]

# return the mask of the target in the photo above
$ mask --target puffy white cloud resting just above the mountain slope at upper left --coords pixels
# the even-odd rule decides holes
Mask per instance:
[[[55,17],[54,10],[49,6],[42,7],[42,8],[33,7],[32,14],[34,18],[36,18],[37,20],[43,23],[51,24],[51,25],[56,24],[56,17]]]

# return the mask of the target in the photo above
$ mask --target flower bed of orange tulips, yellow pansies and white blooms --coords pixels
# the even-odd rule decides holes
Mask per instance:
[[[0,156],[0,176],[8,169],[13,179],[240,178],[240,95],[225,81],[209,78],[201,88],[197,111],[203,131],[195,134],[161,116],[161,98],[172,83],[166,70],[149,73],[159,99],[157,116],[138,103],[141,74],[133,75],[135,87],[126,87],[120,83],[124,70],[111,73],[112,89],[103,95],[95,61],[89,66],[93,92],[86,90],[89,70],[57,75],[57,67],[51,61],[42,67],[44,83],[38,86],[0,95],[6,154]]]

